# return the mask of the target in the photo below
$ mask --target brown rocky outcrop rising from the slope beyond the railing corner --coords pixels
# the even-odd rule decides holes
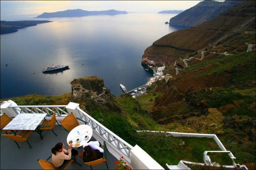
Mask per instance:
[[[74,79],[70,84],[72,85],[72,95],[75,99],[93,99],[101,104],[113,101],[110,90],[104,86],[102,78],[95,76],[78,78]]]

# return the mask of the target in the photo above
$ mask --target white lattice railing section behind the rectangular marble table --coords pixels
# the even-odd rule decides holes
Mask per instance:
[[[65,111],[67,105],[42,105],[42,106],[9,106],[14,110],[16,115],[19,113],[46,113],[48,116],[56,111],[56,116],[61,114],[68,115]]]

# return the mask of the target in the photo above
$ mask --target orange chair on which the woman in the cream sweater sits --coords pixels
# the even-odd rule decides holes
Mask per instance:
[[[39,165],[42,167],[42,169],[66,169],[68,167],[68,165],[72,162],[75,161],[76,164],[80,165],[78,162],[76,162],[75,156],[73,156],[70,161],[67,161],[63,166],[61,166],[60,168],[56,168],[51,162],[49,162],[48,160],[52,158],[52,155],[50,155],[49,158],[47,158],[46,160],[41,160],[41,159],[37,159]],[[82,166],[82,165],[80,165]]]

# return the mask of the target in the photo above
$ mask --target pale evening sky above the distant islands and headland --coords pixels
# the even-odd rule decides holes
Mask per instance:
[[[157,13],[162,10],[185,10],[198,4],[201,0],[171,1],[41,1],[41,0],[1,0],[1,20],[14,15],[41,15],[44,12],[83,9],[103,11],[116,9],[127,12]]]

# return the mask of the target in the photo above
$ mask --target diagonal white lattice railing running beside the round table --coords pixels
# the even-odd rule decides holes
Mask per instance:
[[[131,146],[129,143],[125,142],[123,139],[121,139],[119,136],[114,134],[112,131],[110,131],[108,128],[103,126],[101,123],[99,123],[97,120],[93,119],[90,115],[88,115],[86,112],[84,112],[82,109],[77,108],[79,113],[79,118],[86,121],[86,124],[89,125],[95,132],[97,132],[99,135],[101,135],[106,141],[111,143],[117,150],[121,151],[125,156],[131,159],[131,149],[133,146]]]

